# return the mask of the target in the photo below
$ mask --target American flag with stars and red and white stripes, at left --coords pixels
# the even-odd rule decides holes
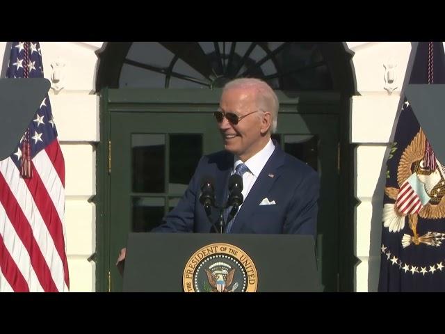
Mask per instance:
[[[39,42],[13,42],[7,77],[43,77]],[[48,95],[27,133],[0,161],[0,292],[65,292],[65,163]],[[20,173],[24,142],[31,148],[30,178]]]

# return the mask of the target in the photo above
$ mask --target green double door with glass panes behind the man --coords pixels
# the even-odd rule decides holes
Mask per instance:
[[[108,90],[108,173],[99,229],[98,290],[121,291],[115,262],[129,232],[161,223],[183,195],[203,154],[223,149],[213,111],[220,92]],[[321,175],[317,257],[325,291],[337,291],[339,273],[338,116],[334,104],[301,104],[280,96],[277,140],[282,149]],[[107,138],[105,138],[107,139]],[[103,154],[104,155],[104,154]]]

